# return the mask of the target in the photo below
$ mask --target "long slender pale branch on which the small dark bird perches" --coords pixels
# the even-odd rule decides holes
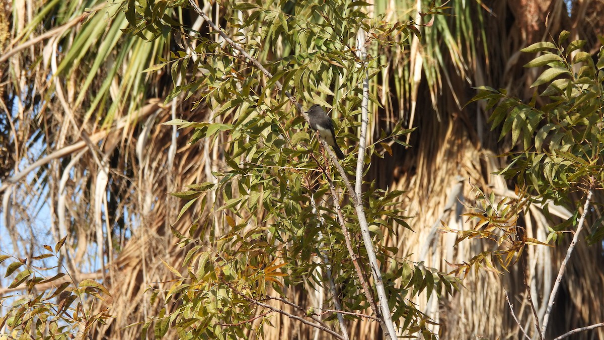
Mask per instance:
[[[234,42],[233,39],[229,38],[229,36],[227,36],[226,33],[220,27],[218,27],[216,24],[214,24],[214,22],[204,13],[204,11],[202,11],[201,8],[199,8],[199,5],[195,2],[195,0],[189,0],[189,3],[193,7],[193,10],[196,11],[198,13],[198,15],[202,16],[202,18],[204,18],[204,20],[208,23],[208,25],[210,25],[210,27],[213,28],[213,30],[216,30],[217,33],[229,45],[231,45],[231,47],[233,47],[234,49],[239,51],[244,57],[246,57],[246,59],[249,60],[249,62],[254,64],[255,67],[259,68],[259,70],[262,71],[266,77],[269,77],[269,78],[273,77],[273,75],[268,70],[266,70],[266,68],[262,64],[260,64],[260,62],[258,60],[256,60],[254,57],[249,55],[249,53],[247,53],[246,50],[244,50],[239,44]],[[302,106],[300,105],[300,103],[297,102],[297,100],[295,99],[294,96],[292,96],[288,91],[283,90],[283,85],[281,84],[281,82],[279,82],[278,80],[275,81],[275,87],[277,87],[278,90],[283,92],[285,94],[285,96],[288,97],[288,99],[292,103],[294,103],[294,105],[296,106],[296,108],[298,110],[298,113],[300,113],[304,117],[306,122],[310,123],[308,114],[302,110]],[[374,309],[374,312],[376,312],[377,315],[380,315],[381,319],[384,318],[385,320],[388,321],[388,322],[381,322],[382,332],[384,332],[386,337],[388,338],[389,336],[392,336],[393,338],[396,338],[396,332],[394,332],[394,324],[391,320],[390,308],[388,307],[388,299],[385,296],[384,282],[382,280],[382,275],[379,270],[379,266],[377,264],[377,257],[375,255],[375,251],[373,249],[373,241],[371,240],[371,236],[369,234],[369,227],[368,227],[368,223],[367,223],[367,218],[365,217],[365,210],[364,210],[364,206],[362,204],[361,195],[355,194],[355,190],[353,189],[352,185],[350,184],[350,180],[348,179],[348,176],[347,176],[346,172],[344,171],[344,168],[342,168],[342,166],[339,164],[338,159],[337,159],[335,153],[332,151],[332,149],[327,147],[327,143],[325,142],[325,140],[321,139],[321,143],[322,143],[324,149],[329,154],[332,164],[336,167],[336,169],[338,169],[338,172],[341,175],[342,180],[344,180],[344,184],[345,184],[346,188],[349,190],[350,196],[352,197],[353,205],[355,206],[355,211],[356,211],[356,214],[357,214],[357,217],[359,220],[359,225],[361,227],[361,232],[363,235],[363,241],[365,244],[365,248],[367,249],[367,253],[368,253],[368,260],[369,260],[370,266],[371,266],[371,274],[373,275],[377,292],[378,292],[379,296],[382,297],[382,298],[380,298],[382,312],[379,313],[377,311],[377,309]],[[332,195],[333,194],[334,194],[334,191],[332,191]],[[339,211],[339,209],[336,209],[336,211],[338,211],[339,214],[341,215],[341,212]],[[343,224],[343,218],[342,218],[341,223]],[[356,258],[356,256],[355,256],[355,258]],[[365,295],[367,295],[367,294],[365,294]],[[370,304],[375,304],[375,302],[370,301]],[[382,315],[382,314],[385,314],[385,315]]]

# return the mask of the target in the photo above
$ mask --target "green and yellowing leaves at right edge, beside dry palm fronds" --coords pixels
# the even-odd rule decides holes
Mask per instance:
[[[515,263],[527,244],[541,244],[527,237],[519,218],[530,204],[539,204],[550,217],[551,204],[573,212],[568,220],[548,226],[547,241],[576,226],[585,192],[601,189],[604,183],[604,50],[592,56],[580,50],[585,41],[567,42],[568,31],[559,34],[557,44],[538,42],[521,51],[540,53],[524,65],[541,68],[531,85],[532,100],[525,103],[509,96],[505,89],[478,88],[472,101],[486,101],[492,110],[492,129],[501,128],[500,140],[510,134],[519,151],[504,156],[510,162],[498,174],[516,185],[516,197],[498,200],[495,195],[477,193],[480,207],[467,216],[475,221],[471,230],[458,231],[460,239],[488,238],[501,246],[483,252],[456,268],[456,272],[477,265],[496,270],[493,264],[506,268]],[[538,87],[542,87],[538,91]],[[602,218],[591,228],[588,240],[602,241]]]

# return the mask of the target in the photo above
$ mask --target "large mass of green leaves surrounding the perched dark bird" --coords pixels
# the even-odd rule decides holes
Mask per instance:
[[[173,313],[164,309],[144,329],[155,322],[158,337],[176,325],[181,338],[244,338],[243,329],[251,329],[252,321],[260,333],[271,324],[267,315],[271,310],[260,313],[259,321],[254,316],[263,302],[287,299],[290,287],[304,283],[328,290],[330,280],[340,288],[339,295],[332,298],[342,300],[342,309],[368,310],[369,302],[359,293],[355,259],[351,260],[344,246],[347,236],[335,217],[341,213],[348,232],[358,235],[355,210],[345,204],[345,196],[336,201],[327,198],[330,186],[340,188],[342,179],[333,176],[330,165],[314,151],[318,149],[316,139],[305,131],[303,117],[292,114],[283,96],[273,94],[274,84],[283,83],[285,90],[304,103],[332,107],[342,117],[336,134],[355,145],[359,140],[360,84],[366,73],[373,77],[384,67],[371,53],[361,63],[355,47],[359,29],[367,32],[370,51],[405,48],[408,36],[419,31],[411,23],[391,25],[380,18],[371,19],[366,14],[370,7],[362,1],[224,3],[228,10],[221,24],[237,44],[265,65],[271,73],[268,76],[242,60],[240,51],[220,38],[197,35],[184,25],[175,27],[175,22],[161,20],[165,15],[157,14],[179,5],[138,2],[129,7],[131,29],[142,33],[140,28],[149,27],[156,34],[178,34],[180,29],[196,36],[189,41],[183,34],[184,48],[147,71],[170,65],[177,85],[170,99],[203,94],[197,105],[213,113],[210,122],[177,119],[168,124],[190,133],[191,143],[222,143],[225,164],[213,171],[216,181],[190,185],[188,191],[173,194],[187,200],[179,218],[193,204],[209,211],[211,218],[193,221],[188,235],[173,230],[188,251],[183,264],[187,275],[170,267],[178,279],[162,296],[165,304],[176,300],[180,307]],[[431,14],[443,8],[432,6]],[[381,105],[375,97],[369,99]],[[368,146],[369,154],[382,157],[384,150],[390,151],[386,142],[404,144],[399,139],[409,132],[399,126],[388,135],[383,133]],[[369,164],[365,160],[365,166]],[[349,162],[342,166],[354,174]],[[388,268],[385,280],[393,319],[403,319],[400,325],[409,333],[422,332],[432,338],[431,321],[411,299],[424,290],[428,298],[432,293],[451,293],[457,280],[422,264],[394,258],[398,249],[379,246],[381,227],[390,233],[397,225],[408,227],[403,211],[397,208],[402,192],[383,191],[374,183],[365,183],[365,188],[362,200],[378,244],[377,257]],[[359,241],[352,242],[358,252],[355,256],[366,258]],[[317,275],[317,267],[333,273],[332,277]],[[370,272],[364,270],[368,280]],[[400,287],[394,284],[396,280],[402,281]],[[278,297],[269,296],[271,292]],[[159,293],[159,289],[153,290],[152,302]]]

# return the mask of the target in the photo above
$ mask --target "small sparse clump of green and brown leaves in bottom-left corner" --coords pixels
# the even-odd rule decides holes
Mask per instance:
[[[2,304],[11,304],[9,312],[0,318],[0,329],[6,326],[9,332],[0,335],[0,339],[86,338],[97,322],[103,323],[112,318],[107,313],[110,303],[100,312],[93,312],[95,303],[111,301],[111,295],[102,284],[90,279],[76,283],[74,278],[66,276],[62,266],[45,265],[44,259],[59,260],[65,239],[54,248],[43,246],[47,252],[31,258],[36,263],[41,262],[42,266],[27,264],[27,260],[10,255],[0,255],[0,263],[11,258],[14,260],[4,276],[14,275],[7,288],[25,286],[24,293],[0,296]],[[55,289],[50,290],[48,286]]]

